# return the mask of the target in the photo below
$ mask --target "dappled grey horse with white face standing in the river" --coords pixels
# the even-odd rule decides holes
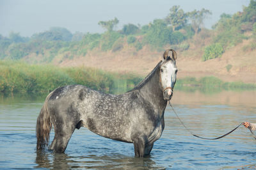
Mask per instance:
[[[103,137],[133,143],[138,157],[150,154],[164,129],[164,110],[176,82],[176,58],[175,50],[166,50],[154,70],[122,95],[81,85],[55,89],[45,99],[37,118],[36,148],[48,146],[53,125],[54,139],[49,150],[56,153],[65,151],[76,128],[86,127]]]

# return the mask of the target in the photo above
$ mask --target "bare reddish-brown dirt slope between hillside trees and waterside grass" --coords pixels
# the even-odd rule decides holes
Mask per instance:
[[[256,83],[256,50],[244,51],[244,46],[252,40],[244,40],[236,47],[226,50],[221,58],[202,61],[204,50],[195,45],[181,52],[177,50],[178,78],[215,76],[223,81],[242,81]],[[161,61],[161,52],[152,52],[143,47],[138,52],[128,45],[118,52],[101,52],[93,50],[86,56],[59,62],[60,66],[89,66],[110,72],[132,72],[141,76],[147,75]]]

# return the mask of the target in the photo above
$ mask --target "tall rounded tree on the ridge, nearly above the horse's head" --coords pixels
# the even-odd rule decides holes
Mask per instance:
[[[187,22],[187,15],[184,13],[182,9],[179,9],[180,6],[172,6],[170,8],[170,13],[166,17],[166,22],[172,26],[173,31],[175,29],[182,27],[186,24]]]

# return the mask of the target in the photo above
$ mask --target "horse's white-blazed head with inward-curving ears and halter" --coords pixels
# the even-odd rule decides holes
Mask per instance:
[[[170,100],[172,98],[178,71],[175,62],[176,59],[177,54],[175,50],[168,49],[163,54],[163,60],[160,66],[160,81],[163,89],[164,100]]]

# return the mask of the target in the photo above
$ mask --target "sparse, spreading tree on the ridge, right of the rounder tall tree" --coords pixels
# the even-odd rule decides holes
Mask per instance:
[[[209,10],[205,10],[203,8],[200,11],[193,10],[193,12],[188,12],[188,18],[191,20],[191,26],[193,27],[195,34],[197,34],[204,26],[204,19],[207,17],[207,15],[211,15],[212,13]]]

